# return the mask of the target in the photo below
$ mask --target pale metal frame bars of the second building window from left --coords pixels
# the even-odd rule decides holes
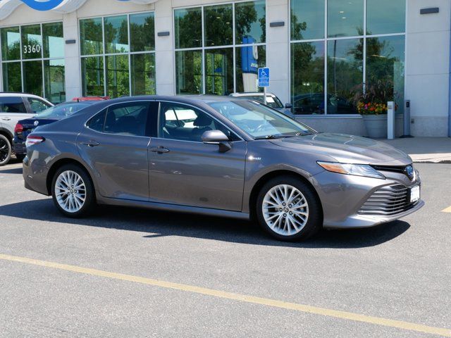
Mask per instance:
[[[144,13],[152,13],[154,15],[154,49],[152,51],[131,51],[131,39],[130,39],[130,16],[131,15],[137,15],[137,14],[144,14]],[[118,17],[118,16],[126,16],[127,17],[127,34],[128,34],[128,51],[124,52],[124,53],[106,53],[106,48],[105,48],[105,18],[114,18],[114,17]],[[92,57],[99,57],[102,58],[103,62],[104,62],[104,69],[103,69],[103,79],[104,79],[104,83],[103,83],[103,87],[104,87],[104,93],[103,96],[108,96],[108,81],[107,81],[107,71],[106,69],[108,68],[108,65],[106,64],[106,58],[109,56],[127,56],[128,57],[128,96],[133,96],[134,94],[132,94],[132,55],[136,55],[136,54],[153,54],[154,55],[154,60],[155,60],[155,53],[156,53],[156,48],[155,48],[155,41],[156,41],[156,29],[155,29],[155,10],[148,10],[148,11],[137,11],[137,12],[132,12],[132,13],[121,13],[121,14],[111,14],[111,15],[93,15],[93,16],[87,16],[87,17],[83,17],[83,18],[78,18],[78,39],[80,39],[81,41],[81,36],[80,36],[80,23],[82,22],[82,20],[89,20],[89,19],[101,19],[101,32],[102,32],[102,37],[101,37],[101,42],[102,42],[102,51],[103,53],[101,54],[82,54],[82,44],[80,42],[79,46],[78,46],[78,55],[79,55],[79,65],[80,65],[80,84],[82,84],[82,95],[86,96],[87,93],[85,93],[85,88],[83,86],[83,76],[84,74],[82,73],[82,59],[84,58],[92,58]],[[156,64],[154,64],[154,68],[156,68]],[[154,75],[155,75],[155,79],[156,79],[156,69],[154,70]],[[154,88],[153,88],[154,92],[156,93],[156,80],[154,83]],[[153,94],[147,94],[147,95],[153,95]]]

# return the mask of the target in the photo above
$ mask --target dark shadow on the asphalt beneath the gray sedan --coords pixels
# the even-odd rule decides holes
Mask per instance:
[[[23,218],[30,221],[42,220],[54,223],[147,232],[149,234],[144,237],[148,239],[182,236],[242,244],[311,249],[352,249],[376,246],[400,236],[410,227],[409,223],[397,220],[366,229],[323,230],[307,242],[285,243],[267,237],[257,225],[251,222],[185,213],[99,206],[94,215],[89,218],[71,219],[58,213],[51,199],[23,201],[17,204],[0,206],[0,215]]]

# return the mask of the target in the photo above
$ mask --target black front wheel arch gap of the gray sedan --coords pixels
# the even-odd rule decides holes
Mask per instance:
[[[321,217],[323,217],[323,204],[321,203],[321,199],[319,198],[319,194],[318,194],[318,192],[316,192],[314,185],[311,184],[311,182],[307,179],[307,177],[304,177],[303,175],[301,175],[297,172],[284,169],[284,170],[274,170],[269,173],[266,173],[265,175],[261,176],[259,178],[259,180],[257,180],[257,182],[254,184],[254,187],[252,187],[252,191],[249,196],[249,213],[250,213],[250,216],[252,219],[256,219],[257,197],[259,196],[259,192],[260,192],[261,188],[269,180],[272,180],[273,178],[281,177],[281,176],[294,177],[297,180],[304,182],[304,184],[307,184],[307,186],[309,186],[311,188],[311,191],[314,193],[314,195],[316,196],[316,199],[319,202],[318,205],[320,206],[320,209],[321,209],[320,210]]]

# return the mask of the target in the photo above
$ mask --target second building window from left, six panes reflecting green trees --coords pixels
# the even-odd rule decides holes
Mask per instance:
[[[82,93],[156,93],[154,13],[80,20]]]

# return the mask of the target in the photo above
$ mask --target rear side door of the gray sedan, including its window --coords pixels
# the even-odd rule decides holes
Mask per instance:
[[[149,200],[147,120],[152,101],[109,106],[88,121],[77,139],[80,155],[94,171],[99,194]]]

